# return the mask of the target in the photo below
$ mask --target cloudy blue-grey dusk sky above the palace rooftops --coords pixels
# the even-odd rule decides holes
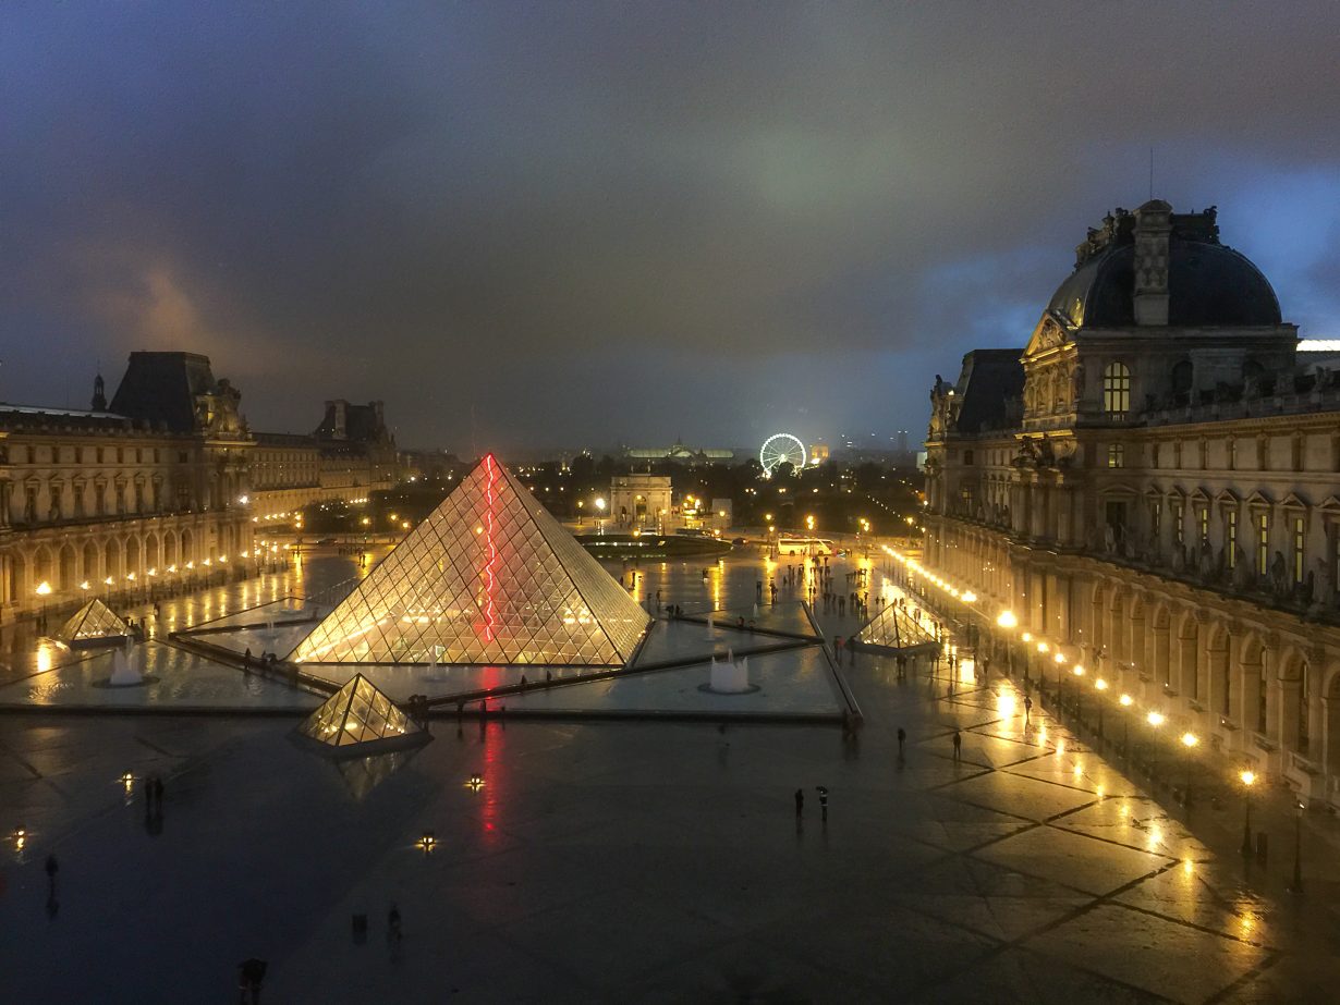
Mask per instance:
[[[1151,147],[1340,336],[1327,0],[9,3],[0,100],[5,401],[190,350],[265,430],[915,438]]]

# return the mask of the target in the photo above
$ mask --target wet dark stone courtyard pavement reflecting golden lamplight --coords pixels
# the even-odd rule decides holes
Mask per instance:
[[[702,610],[768,568],[641,572]],[[953,687],[943,663],[846,665],[855,740],[449,718],[340,768],[284,720],[0,717],[0,838],[27,829],[0,846],[0,1000],[232,1002],[248,957],[264,1002],[1333,1000],[1316,898],[1245,875],[1223,828],[962,657]]]

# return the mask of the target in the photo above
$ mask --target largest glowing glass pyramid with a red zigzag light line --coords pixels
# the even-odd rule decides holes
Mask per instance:
[[[289,659],[622,666],[649,622],[489,454]]]

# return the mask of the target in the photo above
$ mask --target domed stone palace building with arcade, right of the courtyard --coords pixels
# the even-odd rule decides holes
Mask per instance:
[[[1340,804],[1340,382],[1273,297],[1214,210],[1110,216],[1021,352],[937,379],[925,561]]]

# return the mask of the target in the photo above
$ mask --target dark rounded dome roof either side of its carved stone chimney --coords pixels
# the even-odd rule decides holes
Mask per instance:
[[[1166,204],[1150,204],[1166,206]],[[1172,214],[1168,240],[1168,324],[1234,327],[1280,324],[1280,302],[1261,269],[1219,244],[1215,210]],[[1089,230],[1075,272],[1048,311],[1077,328],[1135,324],[1135,222],[1116,210]]]

